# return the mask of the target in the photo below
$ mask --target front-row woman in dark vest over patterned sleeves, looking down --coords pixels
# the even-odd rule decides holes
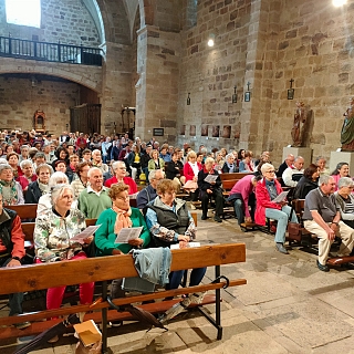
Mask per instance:
[[[163,179],[156,187],[157,197],[147,205],[146,223],[156,246],[169,247],[179,243],[186,248],[195,238],[196,226],[186,201],[176,199],[176,186],[170,179]],[[206,268],[196,268],[190,273],[189,287],[198,285],[206,273]],[[169,274],[168,289],[177,289],[184,270]]]

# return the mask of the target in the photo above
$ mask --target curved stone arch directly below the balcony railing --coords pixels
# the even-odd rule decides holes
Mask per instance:
[[[98,94],[101,94],[102,91],[101,67],[92,66],[88,73],[85,65],[65,64],[65,66],[62,66],[58,63],[50,62],[34,62],[33,65],[30,63],[21,65],[20,60],[13,61],[12,65],[9,65],[9,63],[7,65],[1,65],[0,61],[0,74],[7,73],[31,73],[58,76],[81,84]]]

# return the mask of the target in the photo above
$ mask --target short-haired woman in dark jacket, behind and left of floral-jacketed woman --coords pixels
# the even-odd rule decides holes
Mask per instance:
[[[49,178],[51,177],[52,168],[43,164],[37,167],[35,174],[38,179],[29,185],[25,192],[25,204],[38,204],[41,196],[48,194],[50,190]]]

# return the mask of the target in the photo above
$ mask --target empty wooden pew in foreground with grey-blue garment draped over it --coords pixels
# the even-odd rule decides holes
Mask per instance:
[[[247,283],[244,279],[228,280],[225,277],[220,278],[220,266],[244,262],[244,243],[204,246],[200,248],[173,250],[171,253],[171,271],[201,267],[215,267],[216,281],[209,284],[200,284],[196,287],[180,288],[167,291],[163,290],[149,294],[115,299],[113,300],[114,304],[124,305],[148,300],[165,299],[168,296],[177,296],[181,294],[215,290],[215,298],[210,300],[210,296],[206,296],[206,301],[207,303],[216,303],[216,319],[212,319],[202,309],[200,309],[200,311],[204,315],[207,316],[208,321],[217,327],[217,339],[220,340],[222,336],[220,289],[226,287],[242,285]],[[60,277],[53,277],[53,274],[60,274]],[[35,321],[55,316],[65,316],[77,312],[94,311],[93,313],[86,314],[85,320],[94,317],[97,322],[102,321],[102,352],[105,353],[107,347],[107,319],[110,319],[111,321],[116,321],[132,317],[132,315],[127,315],[124,313],[122,314],[113,310],[107,310],[107,308],[110,306],[110,304],[106,301],[107,281],[115,278],[131,277],[137,277],[132,254],[91,258],[86,260],[72,262],[54,262],[33,266],[22,266],[19,268],[1,268],[0,294],[34,291],[53,287],[73,285],[86,282],[102,282],[103,301],[94,308],[90,305],[74,305],[69,308],[61,308],[59,310],[46,310],[31,312],[29,314],[22,314],[17,316],[2,317],[0,319],[0,326],[7,327],[1,327],[0,340],[38,334],[56,324],[58,322],[61,322],[62,320],[49,320],[45,322]],[[15,279],[17,281],[13,281],[13,279]],[[221,281],[221,279],[225,279],[225,281]],[[155,304],[138,306],[142,309],[149,310],[152,312],[160,313],[165,312],[166,308],[171,303],[167,305],[165,301],[163,301],[156,302]],[[95,312],[97,310],[101,310],[101,315],[98,315]],[[32,322],[32,325],[24,330],[18,330],[11,326],[14,323],[21,323],[23,321],[30,321]]]

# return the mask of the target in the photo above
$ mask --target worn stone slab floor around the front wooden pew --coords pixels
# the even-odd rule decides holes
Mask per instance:
[[[113,353],[354,353],[353,270],[321,272],[314,254],[299,249],[281,254],[270,235],[241,232],[235,219],[217,223],[198,218],[197,238],[202,244],[247,246],[246,263],[221,268],[230,279],[248,281],[222,290],[222,340],[216,340],[215,327],[195,311],[179,315],[168,332],[154,329],[147,333],[137,323],[110,329]],[[208,269],[205,282],[212,274]],[[214,312],[214,306],[208,310]],[[72,336],[62,337],[35,353],[75,353],[75,342]],[[0,343],[0,353],[13,353],[19,343]]]

